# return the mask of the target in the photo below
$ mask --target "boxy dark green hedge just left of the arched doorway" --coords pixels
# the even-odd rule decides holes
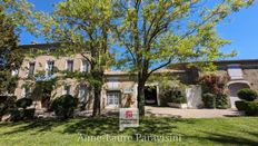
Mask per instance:
[[[228,96],[226,94],[204,94],[202,95],[202,101],[205,104],[206,108],[228,108]]]

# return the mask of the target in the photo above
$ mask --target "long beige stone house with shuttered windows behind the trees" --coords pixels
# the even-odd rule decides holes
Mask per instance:
[[[56,45],[27,45],[20,46],[22,50],[47,49],[54,51]],[[86,56],[90,56],[89,52],[85,52]],[[227,87],[230,90],[230,100],[234,106],[234,101],[238,100],[236,97],[237,90],[241,88],[258,89],[258,60],[236,60],[236,61],[217,61],[218,72],[221,75],[229,75],[230,81]],[[53,57],[49,55],[41,55],[36,58],[23,59],[21,68],[13,71],[13,76],[19,77],[18,86],[14,95],[18,98],[27,97],[31,94],[33,87],[28,87],[28,82],[33,82],[30,77],[34,77],[38,72],[44,72],[44,79],[51,79],[59,76],[59,74],[51,74],[53,68],[58,70],[80,71],[89,72],[90,65],[81,56],[75,55],[72,57]],[[202,106],[201,101],[201,87],[197,85],[196,80],[201,75],[197,68],[187,68],[187,64],[178,64],[177,67],[169,67],[167,69],[160,69],[155,72],[155,76],[177,77],[180,82],[187,85],[183,88],[183,93],[187,97],[188,108],[199,108]],[[101,93],[101,108],[113,109],[119,107],[137,107],[137,82],[136,75],[125,71],[111,71],[105,72],[106,82]],[[33,85],[33,84],[32,84]],[[86,109],[92,109],[93,95],[92,89],[88,81],[77,79],[63,79],[59,80],[58,86],[49,93],[49,97],[44,99],[34,100],[37,108],[47,108],[52,98],[59,97],[64,94],[72,95],[78,98],[81,104],[86,104]],[[146,105],[162,106],[162,99],[160,97],[161,85],[159,80],[149,81],[146,85],[145,97]]]

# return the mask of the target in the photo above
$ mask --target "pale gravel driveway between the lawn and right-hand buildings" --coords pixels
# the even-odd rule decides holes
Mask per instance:
[[[182,118],[214,118],[241,116],[242,113],[239,113],[237,109],[179,109],[146,106],[146,115]]]

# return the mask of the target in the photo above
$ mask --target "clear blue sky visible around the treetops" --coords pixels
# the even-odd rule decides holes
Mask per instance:
[[[53,3],[60,0],[28,0],[37,10],[52,11]],[[42,2],[43,1],[43,2]],[[231,40],[231,45],[222,48],[224,52],[235,49],[238,56],[229,59],[258,59],[258,2],[248,9],[234,13],[229,19],[217,27],[219,36]],[[28,32],[22,32],[20,43],[28,45],[31,41],[43,42],[42,38],[34,38]]]

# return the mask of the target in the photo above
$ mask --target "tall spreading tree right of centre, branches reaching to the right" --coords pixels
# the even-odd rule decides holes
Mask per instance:
[[[126,48],[126,69],[137,71],[138,108],[145,115],[143,87],[149,76],[171,62],[210,61],[230,55],[220,48],[230,41],[216,26],[254,0],[131,0],[116,1],[117,39]]]

